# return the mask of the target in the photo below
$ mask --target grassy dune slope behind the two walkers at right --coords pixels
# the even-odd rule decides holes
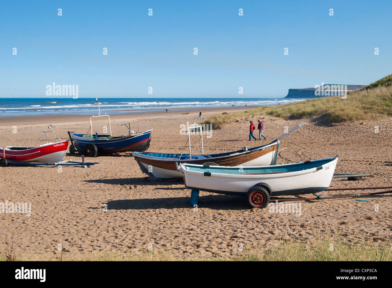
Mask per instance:
[[[286,119],[313,118],[325,124],[377,119],[392,116],[392,74],[359,90],[348,92],[347,98],[330,96],[279,106],[263,106],[244,112],[214,115],[204,124],[220,129],[239,116],[269,115]]]

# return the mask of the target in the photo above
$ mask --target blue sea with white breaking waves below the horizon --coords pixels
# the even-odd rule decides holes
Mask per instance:
[[[109,115],[132,112],[202,110],[213,107],[283,105],[306,99],[284,98],[98,98]],[[96,98],[0,98],[0,117],[56,114],[97,115]]]

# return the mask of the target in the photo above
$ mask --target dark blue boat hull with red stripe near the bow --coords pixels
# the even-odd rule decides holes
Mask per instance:
[[[113,154],[126,151],[145,151],[150,146],[151,130],[140,132],[132,136],[113,137],[98,135],[98,138],[82,137],[83,134],[71,134],[76,150],[84,151],[84,147],[93,143],[100,154]],[[94,136],[95,137],[95,136]],[[105,138],[106,139],[102,139]],[[101,138],[101,139],[100,139]]]

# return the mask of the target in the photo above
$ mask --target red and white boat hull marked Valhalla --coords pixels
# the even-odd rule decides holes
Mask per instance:
[[[55,163],[64,159],[67,147],[68,141],[49,143],[38,147],[8,146],[5,149],[0,148],[0,158],[14,163]]]

